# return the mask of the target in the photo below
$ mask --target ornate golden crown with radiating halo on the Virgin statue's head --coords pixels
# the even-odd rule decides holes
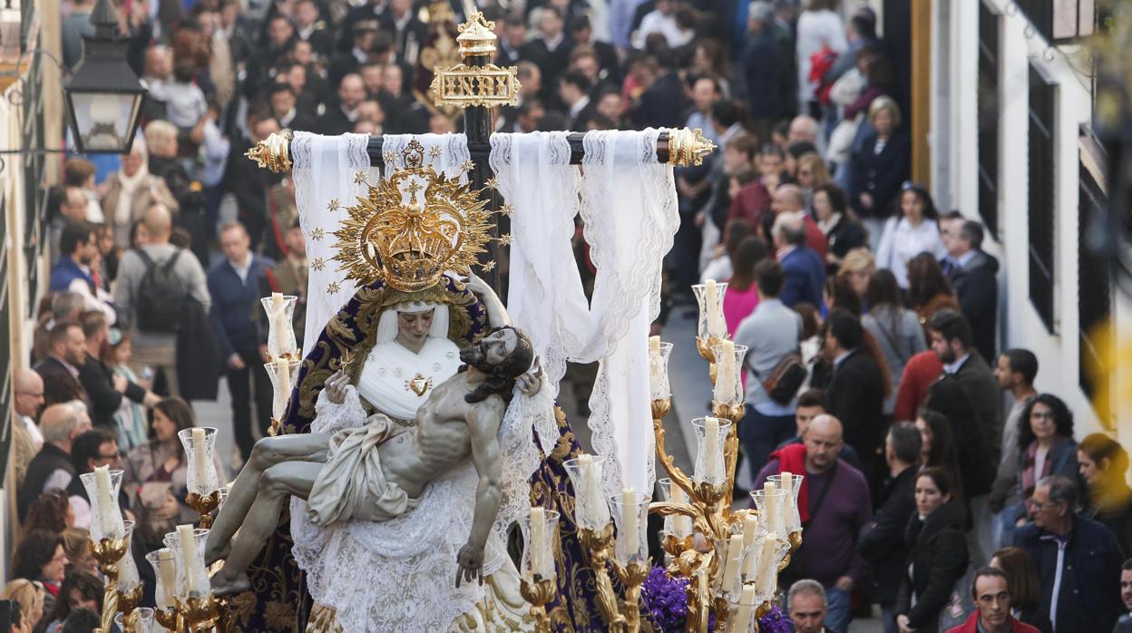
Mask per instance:
[[[432,160],[438,155],[430,153]],[[436,285],[447,271],[470,272],[491,239],[491,212],[458,177],[424,164],[418,140],[405,146],[402,157],[404,168],[376,186],[359,174],[357,182],[366,182],[368,194],[346,208],[349,217],[334,232],[334,259],[338,271],[349,271],[346,279],[417,292]]]

